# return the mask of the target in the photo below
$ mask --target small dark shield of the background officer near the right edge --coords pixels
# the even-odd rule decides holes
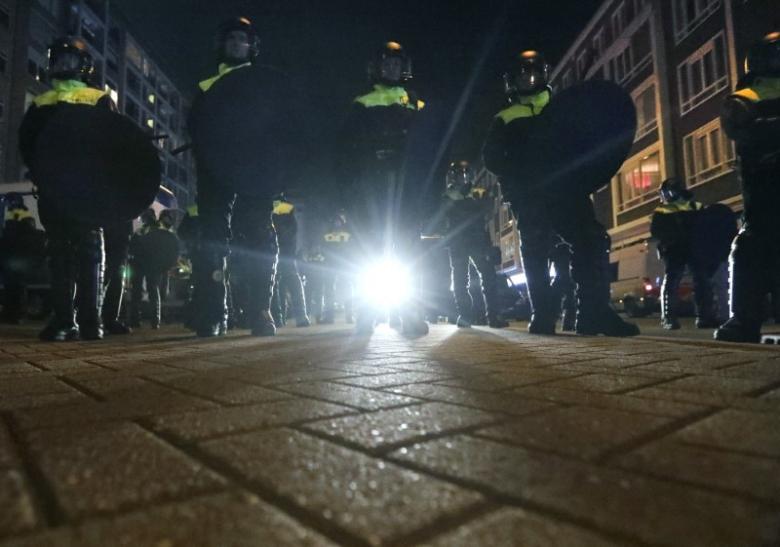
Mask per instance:
[[[713,275],[728,260],[731,243],[737,235],[737,215],[728,205],[715,203],[705,207],[693,230],[694,263],[707,275]]]

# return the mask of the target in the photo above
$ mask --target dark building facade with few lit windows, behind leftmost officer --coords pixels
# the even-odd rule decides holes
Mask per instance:
[[[162,161],[162,184],[184,208],[195,199],[190,152],[174,156],[188,142],[188,101],[158,62],[133,38],[110,0],[0,0],[0,175],[24,180],[18,129],[32,99],[46,91],[48,45],[58,36],[81,37],[95,59],[93,85],[108,91],[119,111],[150,135]],[[0,182],[0,191],[2,189]]]

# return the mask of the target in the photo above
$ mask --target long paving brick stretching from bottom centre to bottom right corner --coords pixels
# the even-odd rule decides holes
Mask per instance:
[[[390,457],[650,544],[780,540],[774,508],[549,453],[461,436],[402,448]]]

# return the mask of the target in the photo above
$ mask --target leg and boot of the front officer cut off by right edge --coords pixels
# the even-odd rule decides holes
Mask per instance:
[[[771,245],[746,225],[731,247],[730,318],[715,331],[715,339],[726,342],[761,341],[764,299],[769,291]]]

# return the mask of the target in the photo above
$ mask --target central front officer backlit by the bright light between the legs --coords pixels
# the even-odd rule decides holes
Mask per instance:
[[[363,259],[396,253],[411,265],[420,228],[412,192],[404,191],[404,167],[409,132],[424,103],[408,88],[412,62],[397,42],[387,42],[379,50],[369,63],[368,76],[372,89],[353,101],[339,162],[342,177],[351,184],[346,195],[355,243],[367,250]],[[402,329],[411,335],[428,332],[418,298],[413,296],[400,310]],[[358,332],[371,332],[376,310],[360,295],[356,315]]]

